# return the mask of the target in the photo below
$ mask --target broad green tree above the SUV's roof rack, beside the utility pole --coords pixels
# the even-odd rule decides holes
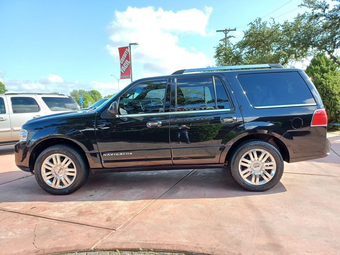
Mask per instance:
[[[309,55],[308,48],[296,42],[292,35],[298,34],[295,25],[301,22],[283,24],[262,21],[260,18],[250,23],[244,37],[233,44],[219,44],[216,47],[216,65],[241,65],[278,63],[288,65],[301,61]]]

